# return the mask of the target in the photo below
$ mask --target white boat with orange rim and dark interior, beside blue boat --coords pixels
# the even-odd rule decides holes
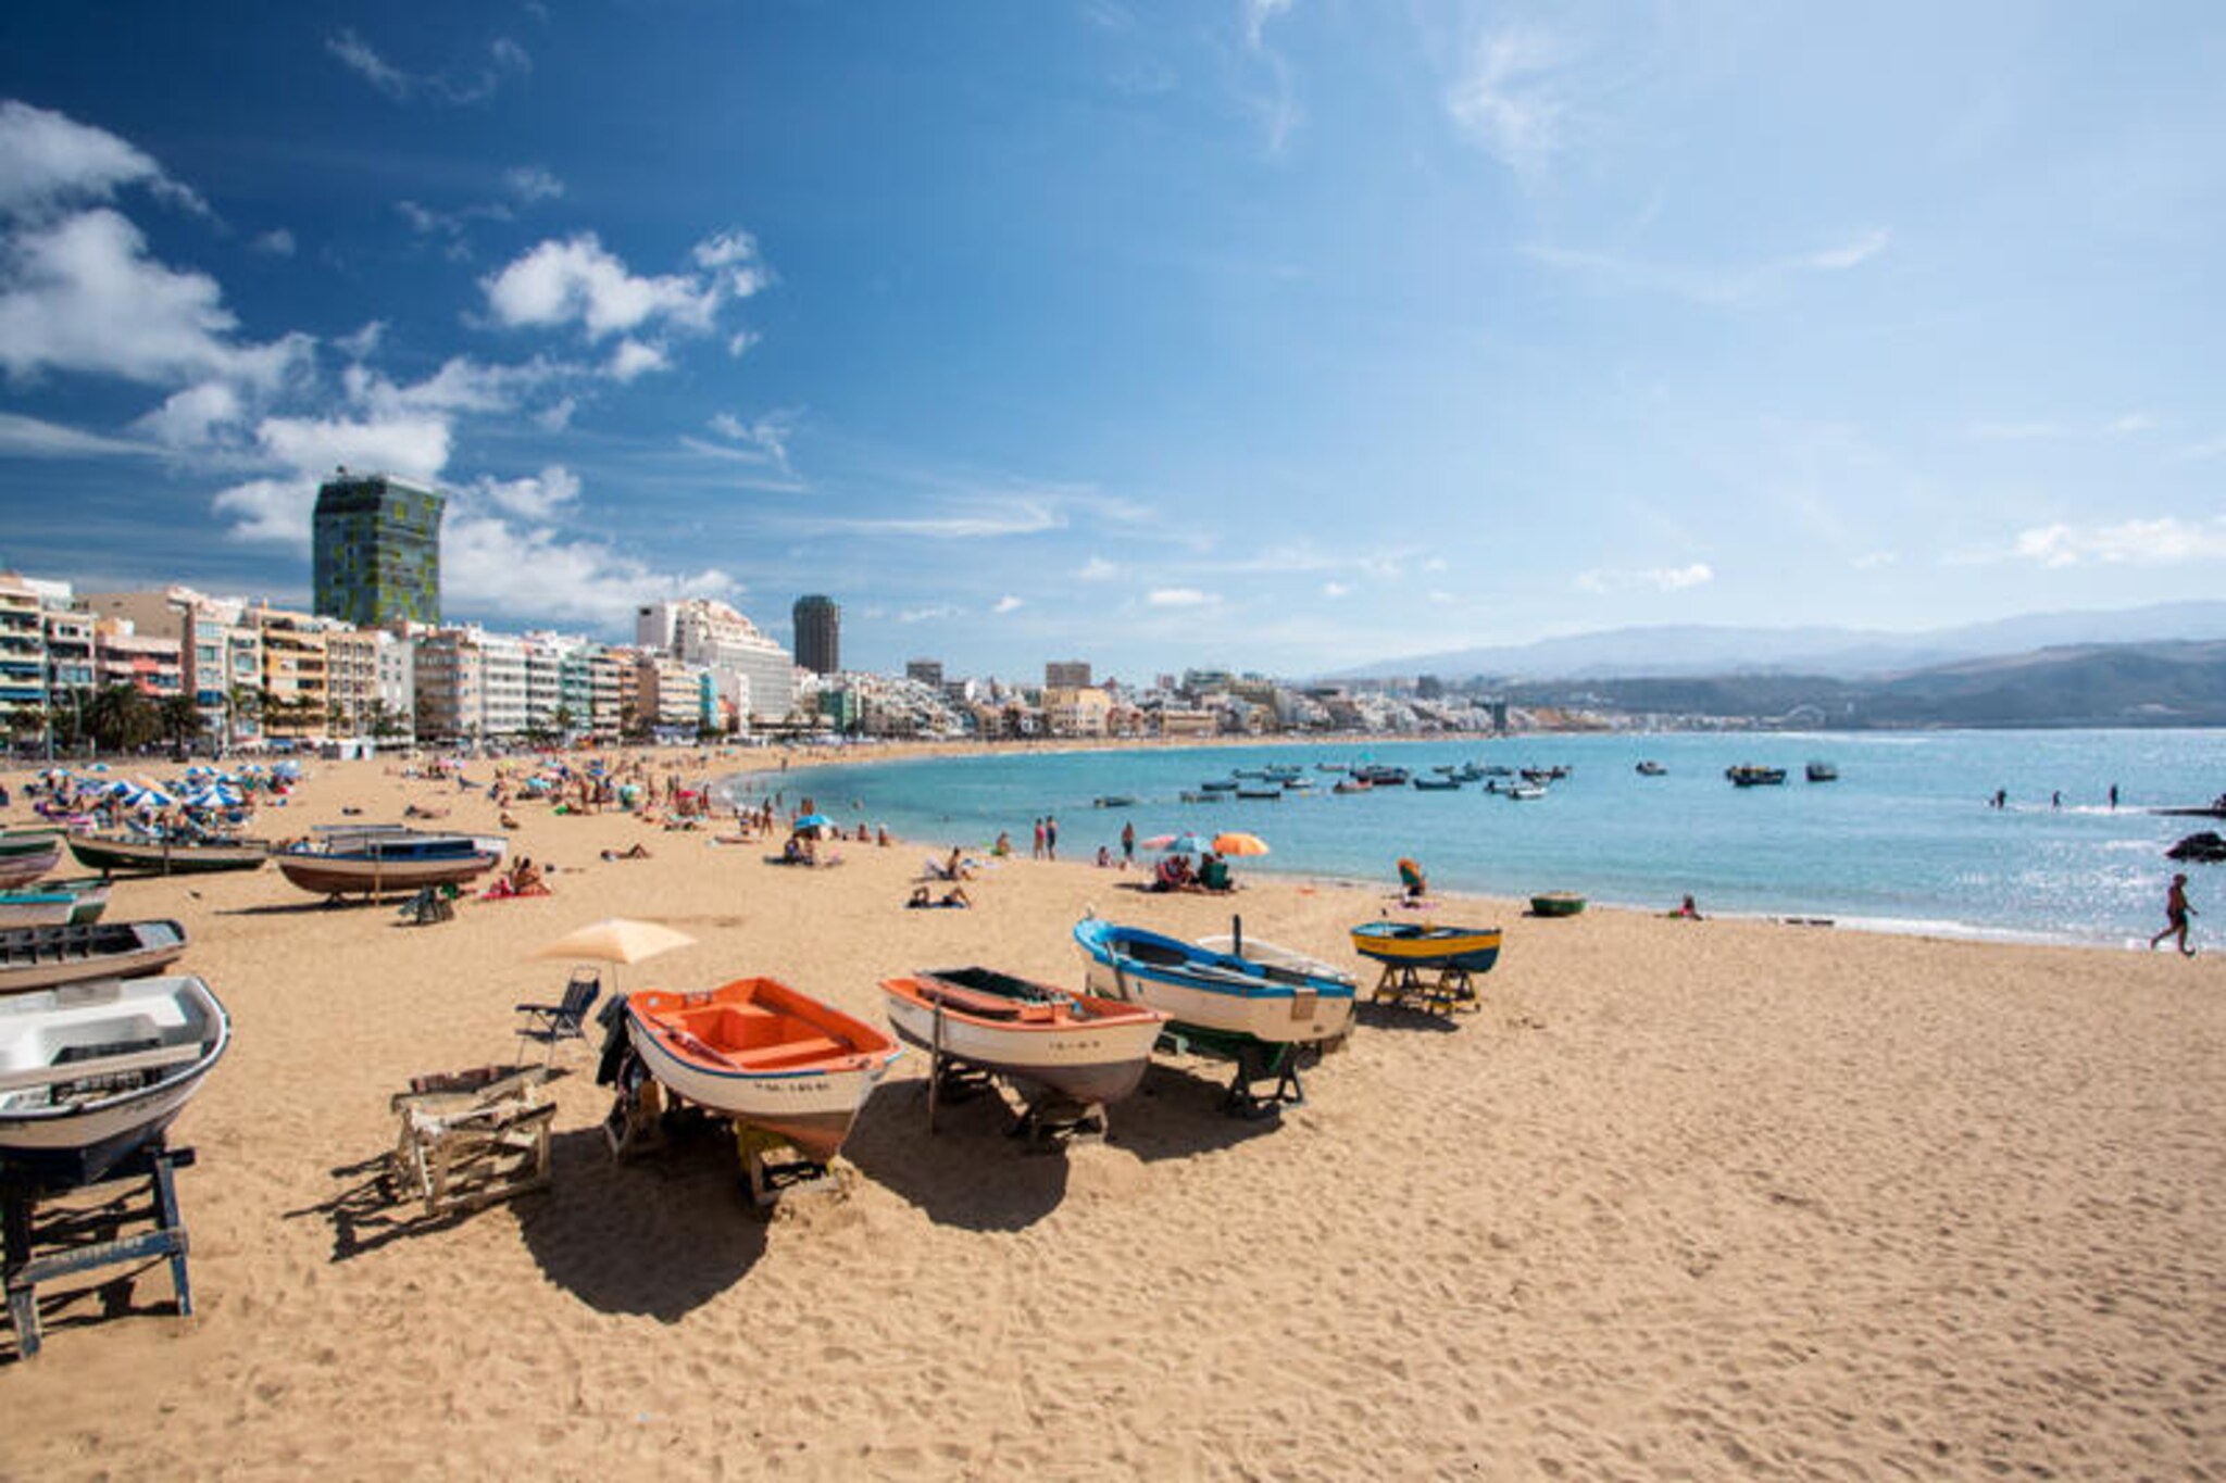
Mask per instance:
[[[884,978],[881,994],[902,1041],[1084,1105],[1135,1092],[1166,1023],[1144,1005],[988,967]]]

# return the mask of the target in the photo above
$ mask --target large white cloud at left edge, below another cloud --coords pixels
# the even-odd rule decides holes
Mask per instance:
[[[0,367],[183,382],[223,376],[276,387],[309,358],[307,336],[240,345],[205,273],[147,258],[138,227],[100,207],[13,236],[0,256]]]

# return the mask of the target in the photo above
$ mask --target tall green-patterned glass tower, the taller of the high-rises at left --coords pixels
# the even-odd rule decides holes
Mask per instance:
[[[441,623],[447,496],[392,474],[341,469],[316,491],[316,614],[363,629]]]

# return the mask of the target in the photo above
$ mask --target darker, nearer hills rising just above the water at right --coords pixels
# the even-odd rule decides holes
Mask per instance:
[[[1848,729],[2217,727],[2226,725],[2226,640],[2055,647],[1852,680],[1759,671],[1516,680],[1503,694],[1518,707]]]

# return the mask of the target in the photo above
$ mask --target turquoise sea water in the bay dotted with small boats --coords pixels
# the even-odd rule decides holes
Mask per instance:
[[[1469,783],[1458,792],[1376,789],[1333,796],[1316,763],[1371,758],[1416,774],[1438,763],[1565,765],[1531,803]],[[1643,778],[1641,758],[1667,767]],[[1805,783],[1830,760],[1839,783]],[[1309,794],[1275,803],[1182,803],[1231,769],[1298,765]],[[1783,787],[1732,787],[1723,769],[1787,769]],[[2106,803],[2119,787],[2119,807]],[[1431,743],[1324,743],[1149,752],[995,754],[759,774],[792,805],[810,794],[846,825],[881,823],[919,845],[986,847],[999,829],[1026,854],[1040,814],[1060,820],[1060,856],[1117,854],[1137,836],[1244,829],[1275,872],[1391,885],[1414,856],[1438,889],[1491,896],[1583,892],[1598,903],[1667,909],[1683,892],[1703,912],[1830,916],[1843,925],[1968,936],[2126,943],[2164,925],[2164,849],[2210,818],[2153,805],[2226,792],[2226,731],[1925,731],[1518,736]],[[2008,807],[1992,809],[1994,789]],[[2061,807],[2052,794],[2061,792]],[[1133,794],[1135,807],[1093,798]],[[1140,852],[1142,854],[1142,852]],[[2226,867],[2188,867],[2197,938],[2226,929]]]

